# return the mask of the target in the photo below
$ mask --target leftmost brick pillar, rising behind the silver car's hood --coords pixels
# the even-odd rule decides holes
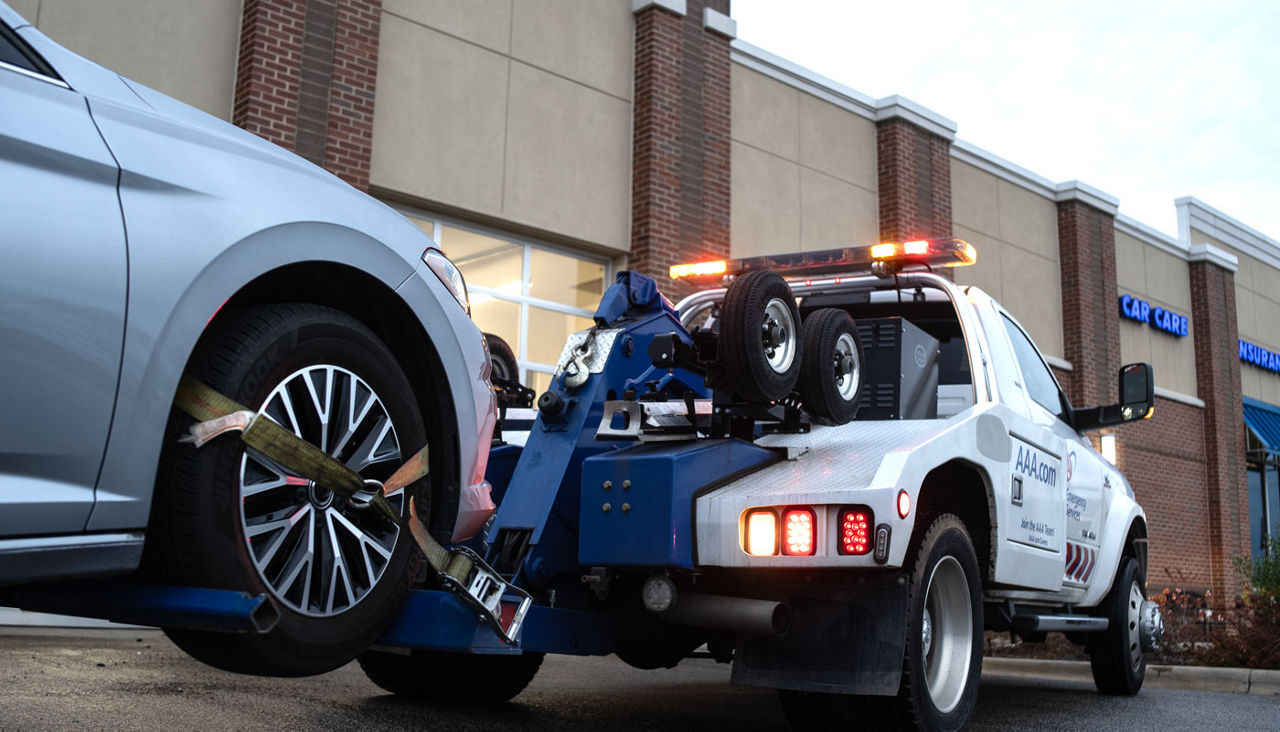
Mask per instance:
[[[380,23],[381,0],[244,0],[232,120],[367,189]]]

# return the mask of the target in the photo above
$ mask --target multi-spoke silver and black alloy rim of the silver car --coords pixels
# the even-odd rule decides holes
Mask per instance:
[[[387,407],[364,379],[340,366],[294,371],[259,413],[365,477],[385,479],[399,466],[399,439]],[[403,514],[403,490],[387,499]],[[275,599],[305,616],[337,616],[364,600],[390,564],[399,536],[399,527],[364,509],[367,504],[334,497],[251,449],[241,458],[239,504],[259,577]]]

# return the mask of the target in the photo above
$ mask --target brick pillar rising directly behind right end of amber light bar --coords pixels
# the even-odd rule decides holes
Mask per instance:
[[[876,124],[881,241],[951,235],[951,139],[890,116]]]

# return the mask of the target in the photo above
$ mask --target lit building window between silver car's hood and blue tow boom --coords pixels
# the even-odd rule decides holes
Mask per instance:
[[[609,262],[470,224],[406,215],[462,270],[471,317],[516,352],[521,383],[545,392],[564,339],[591,326]]]

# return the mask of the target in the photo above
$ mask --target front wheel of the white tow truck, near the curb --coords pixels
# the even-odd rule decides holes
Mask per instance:
[[[1100,613],[1105,613],[1108,621],[1107,630],[1093,633],[1089,644],[1093,683],[1102,694],[1133,696],[1142,688],[1147,659],[1142,653],[1138,625],[1146,589],[1138,561],[1121,557],[1116,580],[1098,604]]]

